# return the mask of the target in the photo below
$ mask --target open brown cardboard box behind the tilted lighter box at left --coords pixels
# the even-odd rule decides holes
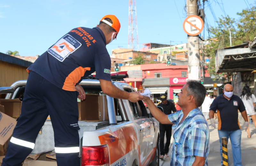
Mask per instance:
[[[4,113],[10,117],[20,117],[20,99],[0,99],[0,104],[4,106]]]

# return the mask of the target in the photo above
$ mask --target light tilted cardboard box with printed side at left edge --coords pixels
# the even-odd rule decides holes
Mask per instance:
[[[16,120],[0,112],[0,156],[5,155]]]

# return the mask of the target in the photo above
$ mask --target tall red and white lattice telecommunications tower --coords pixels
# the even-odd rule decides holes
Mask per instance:
[[[129,0],[128,49],[139,51],[139,39],[138,39],[135,0]]]

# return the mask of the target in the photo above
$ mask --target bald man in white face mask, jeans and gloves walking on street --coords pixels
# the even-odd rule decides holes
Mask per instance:
[[[248,128],[248,119],[247,114],[245,111],[244,103],[242,100],[233,94],[233,86],[230,84],[226,84],[223,89],[223,94],[216,97],[211,106],[209,117],[211,119],[212,127],[216,128],[216,125],[213,117],[215,111],[218,111],[218,133],[220,138],[220,155],[221,155],[221,164],[222,161],[222,145],[221,145],[221,138],[227,137],[230,138],[231,146],[232,146],[232,154],[233,154],[233,161],[234,166],[242,166],[242,159],[241,159],[241,127],[238,122],[238,111],[241,112],[245,123],[244,128],[245,131]],[[229,161],[228,161],[229,162]]]

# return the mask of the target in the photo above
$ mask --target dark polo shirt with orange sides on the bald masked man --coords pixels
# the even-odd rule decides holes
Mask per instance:
[[[223,94],[216,97],[209,110],[218,112],[218,130],[235,131],[241,129],[238,122],[238,110],[245,111],[244,103],[237,95],[232,95],[230,100]]]

